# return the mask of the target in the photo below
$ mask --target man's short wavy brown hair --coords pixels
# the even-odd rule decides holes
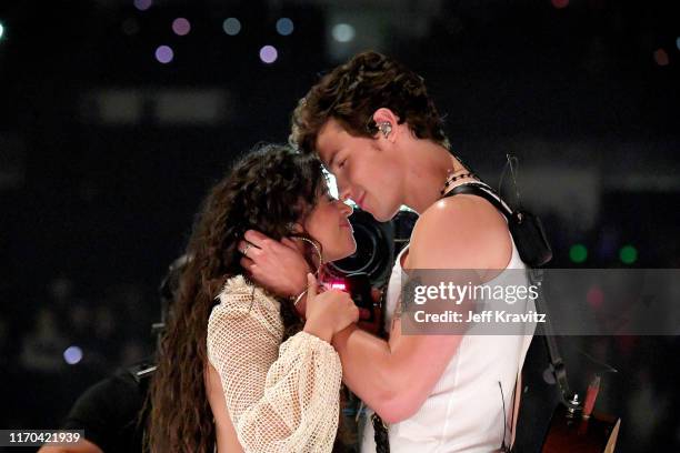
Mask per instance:
[[[291,119],[290,143],[303,152],[316,148],[319,130],[331,118],[356,137],[378,132],[373,113],[388,108],[419,139],[449,149],[443,121],[428,95],[423,79],[398,61],[377,52],[354,56],[333,69],[298,102]]]

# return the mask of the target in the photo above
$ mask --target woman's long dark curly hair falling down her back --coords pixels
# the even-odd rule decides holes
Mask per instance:
[[[317,158],[269,144],[241,158],[209,192],[158,352],[148,401],[150,451],[212,452],[216,432],[203,381],[208,319],[224,281],[243,273],[238,243],[249,229],[277,240],[290,235],[291,223],[304,219],[324,188]],[[290,336],[302,323],[290,301],[280,302]]]

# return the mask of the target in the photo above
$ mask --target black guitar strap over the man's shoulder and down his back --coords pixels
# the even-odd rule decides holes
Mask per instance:
[[[496,193],[491,188],[486,184],[470,182],[457,185],[449,192],[444,193],[442,198],[458,195],[459,193],[481,197],[489,203],[491,203],[493,207],[496,207],[496,209],[498,209],[506,217],[506,219],[508,219],[508,223],[510,223],[511,221],[516,221],[517,214],[513,213],[510,209],[506,207],[506,204],[500,201],[500,197],[496,198],[490,192]],[[528,274],[531,284],[540,284],[543,280],[542,269],[528,268]],[[562,355],[560,354],[560,350],[554,339],[554,332],[550,322],[550,313],[548,312],[548,306],[543,302],[543,292],[539,291],[539,295],[534,300],[536,310],[539,313],[546,314],[546,322],[542,323],[540,328],[543,330],[543,338],[546,339],[548,354],[550,355],[550,364],[552,366],[552,372],[554,373],[556,381],[560,387],[562,402],[569,405],[569,400],[571,399],[572,393],[571,389],[569,387],[569,382],[567,380],[567,369],[564,368],[564,361],[562,360]]]

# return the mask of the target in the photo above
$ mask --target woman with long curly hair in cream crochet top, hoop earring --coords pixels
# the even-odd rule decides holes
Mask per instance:
[[[331,451],[341,366],[332,335],[357,321],[348,294],[276,295],[241,274],[251,228],[288,239],[309,263],[356,250],[351,208],[328,194],[317,158],[267,145],[211,190],[197,218],[151,387],[159,452]],[[214,420],[213,420],[214,419]]]

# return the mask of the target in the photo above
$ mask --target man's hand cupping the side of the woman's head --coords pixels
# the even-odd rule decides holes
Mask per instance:
[[[248,230],[238,246],[247,250],[241,265],[259,285],[281,296],[298,295],[307,288],[307,273],[311,270],[293,240],[274,241]]]

